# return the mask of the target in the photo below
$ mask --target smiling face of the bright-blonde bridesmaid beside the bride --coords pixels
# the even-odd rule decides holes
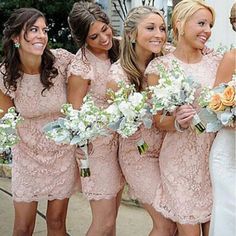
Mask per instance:
[[[211,12],[206,9],[199,9],[189,20],[186,21],[184,34],[180,36],[186,44],[192,48],[203,49],[205,43],[211,36],[213,17]]]

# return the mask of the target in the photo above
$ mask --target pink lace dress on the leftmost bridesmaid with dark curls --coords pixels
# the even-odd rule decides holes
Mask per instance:
[[[57,119],[66,103],[67,67],[73,54],[53,50],[58,76],[45,90],[39,75],[24,74],[17,90],[9,92],[23,117],[18,127],[20,142],[13,148],[12,193],[18,202],[69,198],[78,187],[78,168],[74,147],[57,145],[43,134],[43,127]],[[0,74],[0,89],[6,92]]]

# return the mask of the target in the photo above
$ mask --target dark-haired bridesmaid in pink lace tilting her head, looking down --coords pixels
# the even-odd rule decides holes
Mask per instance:
[[[105,92],[111,63],[117,60],[118,43],[109,19],[97,4],[75,3],[69,14],[72,36],[79,46],[68,79],[68,102],[75,109],[89,92],[98,106],[107,106]],[[115,235],[115,222],[124,186],[118,163],[115,133],[92,141],[89,151],[90,177],[82,178],[82,191],[90,201],[92,223],[87,236]],[[79,152],[81,158],[83,153]]]

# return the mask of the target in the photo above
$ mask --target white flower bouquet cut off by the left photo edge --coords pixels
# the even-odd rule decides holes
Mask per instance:
[[[3,111],[0,109],[0,112]],[[9,108],[0,119],[0,153],[7,151],[19,141],[16,126],[21,120],[14,107]]]

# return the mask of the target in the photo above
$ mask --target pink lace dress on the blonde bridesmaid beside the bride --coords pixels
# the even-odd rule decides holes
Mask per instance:
[[[171,53],[154,59],[145,73],[158,74],[157,65],[164,63],[170,67],[172,60],[201,86],[213,86],[220,58],[212,55],[204,56],[199,63],[185,64]],[[196,102],[194,106],[199,109]],[[183,133],[167,133],[159,157],[163,189],[162,194],[157,192],[153,203],[164,216],[181,224],[210,220],[212,188],[208,159],[214,137],[212,133],[196,134],[191,128]]]

